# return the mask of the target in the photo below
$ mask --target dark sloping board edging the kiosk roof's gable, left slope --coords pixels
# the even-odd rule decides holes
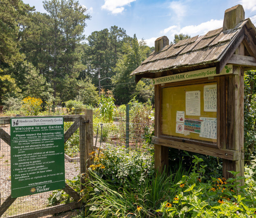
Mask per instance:
[[[238,48],[238,46],[241,44],[241,42],[244,39],[244,28],[243,27],[239,33],[231,40],[229,43],[229,47],[226,49],[223,56],[220,57],[220,61],[216,64],[216,74],[219,74],[221,70],[227,65],[227,62],[230,60],[233,53],[235,53],[235,50]]]

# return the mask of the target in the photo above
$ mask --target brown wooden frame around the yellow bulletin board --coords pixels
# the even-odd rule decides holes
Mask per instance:
[[[172,87],[189,87],[189,86],[194,86],[194,85],[210,85],[210,84],[217,84],[217,111],[216,111],[216,118],[217,118],[217,137],[215,142],[211,142],[210,140],[199,140],[196,138],[188,138],[185,136],[173,136],[173,135],[167,135],[163,134],[162,128],[163,128],[163,123],[162,123],[162,89],[164,88],[172,88]],[[157,86],[155,86],[157,88]],[[159,111],[159,124],[156,128],[158,128],[158,137],[167,139],[167,140],[174,140],[177,142],[184,142],[184,143],[191,143],[191,144],[197,144],[197,145],[202,145],[202,146],[207,146],[207,147],[212,147],[212,148],[221,148],[221,143],[220,143],[220,124],[221,124],[221,110],[220,110],[220,105],[221,105],[221,94],[220,94],[220,77],[214,77],[214,78],[203,78],[203,79],[197,79],[197,80],[187,80],[187,81],[181,81],[181,82],[173,82],[173,83],[166,83],[166,84],[160,84],[158,85],[158,96],[159,98],[159,103],[156,107],[158,107]],[[201,93],[201,99],[202,99],[203,93]],[[185,102],[184,102],[185,104]],[[202,102],[201,102],[202,104]],[[186,117],[186,115],[185,115]],[[188,118],[192,118],[192,116],[189,116]],[[198,117],[195,117],[198,118]],[[174,124],[176,125],[176,123]]]

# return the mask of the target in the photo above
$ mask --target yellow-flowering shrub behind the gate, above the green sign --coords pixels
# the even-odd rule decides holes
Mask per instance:
[[[40,109],[42,109],[43,101],[34,97],[27,97],[22,100],[21,109],[25,112],[27,116],[37,116]]]

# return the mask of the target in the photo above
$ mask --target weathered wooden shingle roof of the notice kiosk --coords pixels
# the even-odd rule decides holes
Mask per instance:
[[[184,72],[191,69],[219,66],[219,70],[227,64],[238,45],[250,35],[254,46],[246,46],[250,56],[256,58],[256,29],[250,19],[241,21],[233,29],[222,31],[215,29],[203,36],[195,36],[179,41],[177,44],[166,45],[157,53],[152,52],[131,75],[154,78],[157,72]],[[251,36],[252,35],[252,36]],[[249,48],[248,48],[249,47]],[[228,60],[227,59],[228,56]],[[225,59],[225,60],[223,60]],[[218,69],[216,69],[218,71]],[[142,76],[143,74],[143,76]]]

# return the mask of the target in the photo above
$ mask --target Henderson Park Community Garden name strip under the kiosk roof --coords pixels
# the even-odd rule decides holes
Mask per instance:
[[[233,74],[233,65],[231,64],[226,65],[223,68],[223,70],[221,70],[220,74],[216,74],[216,68],[213,67],[213,68],[194,70],[190,72],[154,78],[152,79],[152,85],[169,83],[169,82],[179,82],[179,81],[191,80],[191,79],[207,78],[209,76],[221,76],[226,74]]]

